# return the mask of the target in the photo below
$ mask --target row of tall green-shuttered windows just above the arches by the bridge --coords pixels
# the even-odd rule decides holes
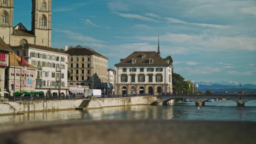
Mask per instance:
[[[146,80],[145,75],[138,75],[137,78],[138,78],[137,82],[139,82],[139,83],[144,83],[145,80]],[[121,75],[121,82],[122,83],[128,82],[128,76],[127,75]],[[136,75],[131,75],[131,82],[132,83],[136,82]],[[156,75],[155,76],[155,82],[157,82],[157,83],[163,82],[163,75]],[[153,83],[153,75],[148,75],[148,83]]]

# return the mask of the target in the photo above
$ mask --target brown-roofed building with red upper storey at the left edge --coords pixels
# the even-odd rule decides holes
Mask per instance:
[[[12,49],[0,37],[0,97],[5,93],[5,69],[9,66],[9,52]]]

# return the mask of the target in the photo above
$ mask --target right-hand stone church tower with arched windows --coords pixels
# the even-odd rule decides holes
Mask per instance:
[[[32,32],[35,44],[51,47],[52,0],[32,0]]]

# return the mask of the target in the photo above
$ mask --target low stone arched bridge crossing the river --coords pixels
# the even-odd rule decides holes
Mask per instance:
[[[235,101],[237,106],[244,106],[245,102],[251,101],[256,99],[256,94],[249,94],[249,95],[228,95],[228,94],[203,94],[203,95],[162,95],[157,96],[157,98],[165,104],[167,101],[172,99],[189,99],[194,101],[197,106],[204,106],[205,101],[210,99],[229,99],[231,101]]]

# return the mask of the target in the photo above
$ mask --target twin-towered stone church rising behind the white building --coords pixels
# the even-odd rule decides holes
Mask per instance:
[[[52,0],[32,0],[31,30],[21,23],[13,27],[13,0],[0,2],[0,37],[6,44],[30,43],[51,47]]]

